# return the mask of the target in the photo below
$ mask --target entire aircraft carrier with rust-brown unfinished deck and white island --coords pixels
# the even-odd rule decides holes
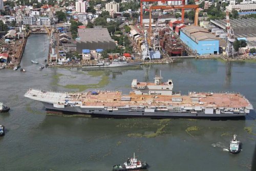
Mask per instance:
[[[173,81],[132,81],[132,91],[88,91],[58,93],[29,89],[24,95],[40,101],[49,113],[83,114],[92,117],[149,117],[149,118],[244,118],[253,110],[252,104],[240,93],[173,91]]]

